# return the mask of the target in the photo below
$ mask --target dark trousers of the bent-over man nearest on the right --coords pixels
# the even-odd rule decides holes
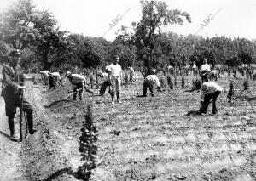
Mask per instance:
[[[217,106],[216,106],[216,101],[218,99],[219,94],[220,94],[220,91],[216,91],[212,94],[206,94],[205,95],[203,105],[201,106],[201,113],[204,113],[204,114],[207,113],[207,108],[208,108],[208,105],[209,105],[209,102],[211,101],[211,99],[213,99],[213,101],[212,101],[212,114],[217,114],[218,113]]]

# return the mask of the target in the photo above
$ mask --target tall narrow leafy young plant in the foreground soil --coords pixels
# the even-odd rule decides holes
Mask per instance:
[[[98,141],[98,130],[96,122],[93,121],[92,105],[87,106],[87,114],[84,116],[82,136],[79,138],[79,152],[82,160],[85,161],[83,166],[79,167],[78,175],[83,180],[89,180],[91,170],[96,168],[96,154]]]

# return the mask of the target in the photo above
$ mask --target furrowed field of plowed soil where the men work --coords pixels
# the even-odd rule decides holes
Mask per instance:
[[[221,75],[218,84],[226,90],[230,77]],[[93,104],[99,130],[98,162],[90,180],[256,180],[256,82],[242,91],[243,78],[233,79],[235,99],[226,93],[218,99],[218,115],[212,105],[204,116],[186,116],[199,109],[199,92],[186,88],[154,97],[142,94],[143,76],[122,87],[122,104],[110,104],[110,96],[84,93],[82,101],[68,99],[50,105],[71,93],[65,88],[32,82],[26,91],[35,106],[38,132],[22,143],[20,159],[25,180],[77,180],[71,174],[80,161],[79,137],[86,106]],[[91,89],[98,93],[96,89]],[[50,105],[50,106],[47,106]]]

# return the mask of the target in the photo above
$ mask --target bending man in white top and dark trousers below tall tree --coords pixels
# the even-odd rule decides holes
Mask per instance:
[[[156,70],[153,70],[155,73]],[[147,89],[149,88],[149,91],[151,93],[151,96],[154,97],[154,84],[156,85],[158,91],[161,91],[160,89],[160,81],[159,78],[156,75],[149,75],[144,79],[143,82],[143,97],[147,97]]]

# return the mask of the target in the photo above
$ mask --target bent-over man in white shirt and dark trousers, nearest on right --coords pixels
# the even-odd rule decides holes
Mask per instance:
[[[200,108],[200,114],[206,114],[207,113],[207,108],[208,105],[212,101],[212,114],[217,114],[217,106],[216,106],[216,101],[218,99],[218,95],[223,91],[224,89],[219,86],[216,82],[204,82],[201,85],[201,92],[200,92],[200,97],[201,97],[201,108]]]

